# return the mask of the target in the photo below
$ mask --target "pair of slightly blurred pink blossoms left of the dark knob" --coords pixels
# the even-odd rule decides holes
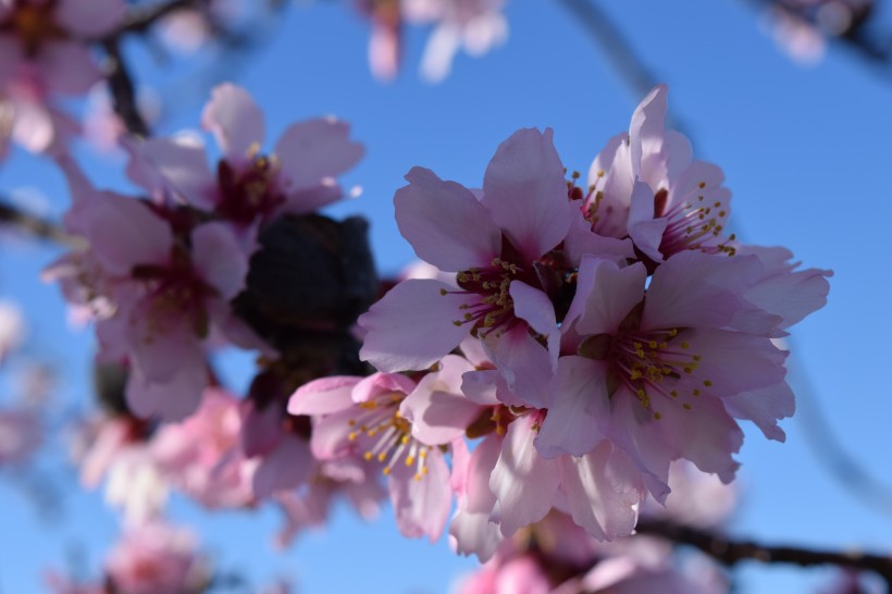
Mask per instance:
[[[61,160],[74,196],[65,224],[88,247],[49,276],[95,319],[100,358],[128,364],[127,404],[139,417],[194,412],[210,381],[210,346],[264,348],[230,304],[245,288],[258,233],[340,198],[334,176],[362,154],[333,119],[294,124],[261,152],[263,115],[233,85],[214,89],[202,124],[223,152],[214,173],[195,141],[128,140],[128,173],[147,198],[99,191]]]

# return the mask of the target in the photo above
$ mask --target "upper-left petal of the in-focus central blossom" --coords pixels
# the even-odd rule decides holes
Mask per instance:
[[[501,250],[501,231],[468,189],[412,168],[394,196],[399,232],[416,253],[445,272],[488,267]]]

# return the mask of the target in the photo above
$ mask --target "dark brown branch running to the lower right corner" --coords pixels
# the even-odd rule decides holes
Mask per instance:
[[[892,557],[858,552],[816,550],[795,546],[764,545],[753,541],[736,541],[706,530],[660,520],[642,520],[635,529],[640,534],[662,536],[674,543],[694,546],[714,559],[733,566],[755,560],[792,564],[800,567],[834,565],[860,571],[872,571],[892,590]]]

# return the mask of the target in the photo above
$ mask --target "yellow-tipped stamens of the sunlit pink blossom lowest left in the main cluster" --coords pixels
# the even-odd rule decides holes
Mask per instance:
[[[359,412],[348,422],[351,442],[362,442],[366,460],[384,463],[382,472],[389,475],[400,461],[414,467],[414,480],[428,474],[430,446],[412,437],[412,425],[399,412],[404,394],[385,394],[357,405]]]

